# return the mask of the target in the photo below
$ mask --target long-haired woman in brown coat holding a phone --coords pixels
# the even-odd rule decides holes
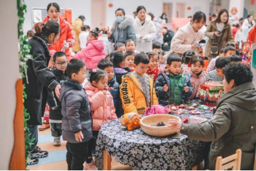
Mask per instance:
[[[206,30],[205,35],[209,37],[209,40],[206,46],[205,55],[209,57],[210,60],[219,56],[219,52],[225,47],[226,43],[234,41],[233,31],[228,19],[228,10],[220,10],[217,19],[212,21]]]

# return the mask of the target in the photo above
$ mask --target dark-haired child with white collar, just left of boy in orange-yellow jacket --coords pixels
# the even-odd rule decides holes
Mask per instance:
[[[118,84],[122,84],[122,77],[130,73],[126,69],[126,63],[124,62],[124,56],[121,51],[114,51],[112,53],[113,72]]]

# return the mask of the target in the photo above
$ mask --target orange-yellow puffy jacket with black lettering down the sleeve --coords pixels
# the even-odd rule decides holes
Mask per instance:
[[[148,75],[147,75],[148,76]],[[150,76],[148,76],[150,78]],[[144,114],[148,106],[143,93],[143,88],[139,84],[133,73],[123,76],[123,82],[120,86],[120,97],[123,103],[124,113],[139,113]],[[157,105],[158,100],[153,87],[153,79],[150,78],[150,97],[152,105]]]

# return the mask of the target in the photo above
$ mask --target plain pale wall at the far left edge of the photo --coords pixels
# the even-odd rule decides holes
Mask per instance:
[[[16,6],[16,0],[0,1],[0,170],[8,170],[14,145],[15,84],[20,76]]]

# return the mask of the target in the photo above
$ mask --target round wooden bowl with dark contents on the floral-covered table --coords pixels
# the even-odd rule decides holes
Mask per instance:
[[[143,131],[150,135],[150,136],[156,136],[156,137],[164,137],[164,136],[170,136],[172,134],[175,134],[177,131],[172,131],[168,126],[169,120],[181,120],[177,116],[172,116],[169,114],[154,114],[151,116],[146,116],[141,120],[141,129]],[[157,125],[157,123],[163,122],[165,125],[164,127],[153,127],[152,125]]]

